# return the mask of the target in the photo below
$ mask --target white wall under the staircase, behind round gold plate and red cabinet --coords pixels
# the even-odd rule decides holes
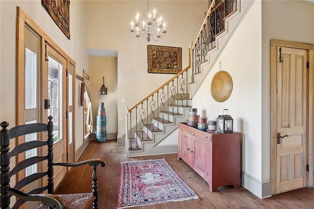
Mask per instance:
[[[223,109],[234,119],[234,131],[242,133],[241,170],[261,181],[262,174],[262,17],[261,1],[256,0],[235,31],[193,98],[198,114],[216,120]],[[249,32],[248,32],[249,31]],[[216,102],[210,93],[213,76],[227,71],[233,80],[228,100]]]

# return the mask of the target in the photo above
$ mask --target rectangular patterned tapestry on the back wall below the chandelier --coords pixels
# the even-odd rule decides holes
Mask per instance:
[[[182,70],[182,48],[147,46],[148,73],[178,74]]]

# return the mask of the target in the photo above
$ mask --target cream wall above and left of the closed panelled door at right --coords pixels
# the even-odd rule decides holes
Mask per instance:
[[[270,39],[314,44],[314,3],[262,1],[262,180],[270,178]]]

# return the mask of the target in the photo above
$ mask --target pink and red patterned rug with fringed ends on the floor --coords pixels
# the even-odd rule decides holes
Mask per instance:
[[[197,198],[165,159],[121,162],[118,209]]]

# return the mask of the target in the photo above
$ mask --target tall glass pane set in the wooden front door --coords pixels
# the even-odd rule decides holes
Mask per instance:
[[[53,143],[62,138],[62,64],[49,56],[48,62],[48,99],[53,122]]]

